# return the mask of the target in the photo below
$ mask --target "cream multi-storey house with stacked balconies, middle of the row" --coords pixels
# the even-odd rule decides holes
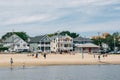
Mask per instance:
[[[51,37],[51,51],[53,52],[68,52],[73,50],[73,39],[68,36],[53,36]]]

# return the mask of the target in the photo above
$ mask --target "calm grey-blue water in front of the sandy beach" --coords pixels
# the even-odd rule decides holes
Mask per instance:
[[[120,80],[120,65],[0,68],[0,80]]]

